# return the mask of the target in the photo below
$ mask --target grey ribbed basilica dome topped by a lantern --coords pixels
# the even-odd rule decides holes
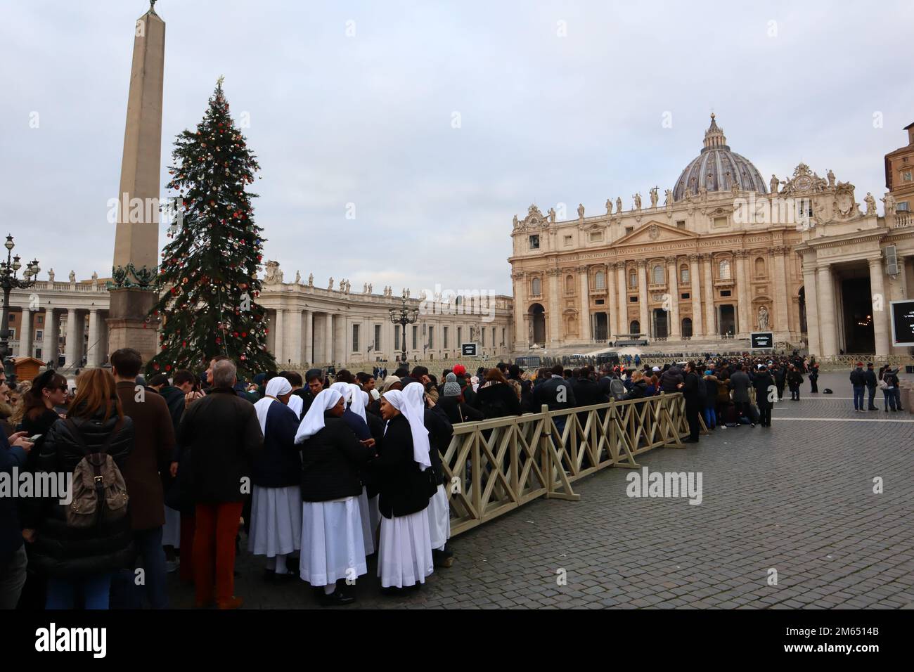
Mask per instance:
[[[712,112],[711,125],[705,132],[705,147],[676,180],[673,199],[682,200],[686,193],[696,196],[701,187],[708,191],[729,191],[734,180],[741,191],[768,193],[759,169],[745,156],[730,151]]]

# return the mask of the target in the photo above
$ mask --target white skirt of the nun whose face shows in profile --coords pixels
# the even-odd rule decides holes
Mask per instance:
[[[429,537],[429,509],[401,517],[381,518],[377,575],[381,586],[389,588],[425,583],[434,571]]]

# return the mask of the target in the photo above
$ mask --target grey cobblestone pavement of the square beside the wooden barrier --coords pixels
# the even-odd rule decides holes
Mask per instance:
[[[700,472],[698,506],[629,497],[632,471],[607,469],[574,484],[579,502],[538,499],[453,539],[453,567],[420,591],[382,595],[369,563],[349,608],[910,608],[914,415],[885,413],[881,399],[855,413],[846,373],[821,376],[826,387],[834,395],[804,383],[771,428],[639,456],[652,472]],[[261,565],[239,556],[246,608],[316,606],[303,581],[266,582]],[[173,605],[189,607],[191,589],[169,581]]]

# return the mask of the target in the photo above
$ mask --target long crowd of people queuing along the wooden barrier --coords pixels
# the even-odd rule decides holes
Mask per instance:
[[[785,387],[798,401],[808,376],[818,391],[814,360],[699,359],[499,363],[475,375],[455,365],[441,379],[401,365],[343,369],[332,382],[314,368],[242,382],[219,356],[199,375],[147,381],[126,348],[110,371],[83,371],[75,390],[51,369],[16,389],[0,378],[2,472],[73,484],[69,501],[0,497],[0,608],[166,608],[169,571],[194,586],[197,607],[237,608],[240,526],[266,581],[298,577],[322,604],[354,602],[373,556],[383,592],[418,588],[454,561],[441,465],[454,424],[681,392],[694,443],[699,417],[708,430],[771,427]],[[886,411],[900,410],[897,370],[860,363],[850,378],[856,410],[865,389],[875,408],[880,388]],[[567,417],[555,417],[559,431]]]

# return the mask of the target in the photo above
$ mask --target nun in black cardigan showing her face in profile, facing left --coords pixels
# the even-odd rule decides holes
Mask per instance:
[[[407,387],[420,383],[410,383]],[[411,390],[410,390],[411,391]],[[384,589],[425,582],[434,570],[429,533],[429,431],[421,396],[397,389],[384,393],[381,415],[388,421],[375,464],[380,480],[381,534],[377,575]]]

